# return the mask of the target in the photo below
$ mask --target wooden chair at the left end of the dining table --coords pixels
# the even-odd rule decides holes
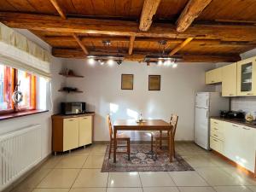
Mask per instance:
[[[108,122],[108,131],[109,131],[109,137],[110,137],[108,159],[110,159],[114,141],[113,141],[112,123],[111,123],[109,114],[107,115],[107,122]],[[126,136],[124,133],[121,133],[121,134],[117,134],[116,139],[117,139],[117,143],[121,141],[125,141],[127,143],[127,145],[117,145],[117,148],[127,148],[125,152],[117,151],[116,153],[128,154],[128,160],[130,160],[130,137]]]

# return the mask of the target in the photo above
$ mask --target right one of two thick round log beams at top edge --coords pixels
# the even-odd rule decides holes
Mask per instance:
[[[177,32],[184,32],[212,0],[189,0],[177,20]]]

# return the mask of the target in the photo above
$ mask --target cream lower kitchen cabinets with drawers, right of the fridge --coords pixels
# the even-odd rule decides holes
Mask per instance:
[[[255,172],[256,129],[225,121],[213,125],[214,121],[216,119],[211,119],[210,147],[236,164]],[[215,134],[218,136],[216,137],[213,134],[215,129],[220,129],[223,133]]]

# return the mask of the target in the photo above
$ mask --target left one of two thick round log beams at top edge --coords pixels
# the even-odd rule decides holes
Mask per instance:
[[[139,29],[148,31],[161,0],[144,0]]]

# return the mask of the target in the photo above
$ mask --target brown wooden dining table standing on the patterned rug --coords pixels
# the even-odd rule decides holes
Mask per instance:
[[[138,123],[136,119],[117,119],[113,123],[113,163],[116,163],[117,150],[117,132],[118,131],[170,131],[169,134],[169,160],[172,162],[173,144],[172,144],[173,126],[162,119],[145,119]]]

